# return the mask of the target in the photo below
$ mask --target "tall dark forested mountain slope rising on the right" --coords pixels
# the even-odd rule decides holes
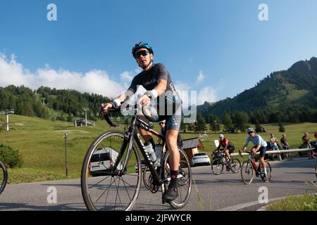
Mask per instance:
[[[317,58],[273,72],[234,98],[198,106],[205,118],[245,112],[259,122],[317,122]]]

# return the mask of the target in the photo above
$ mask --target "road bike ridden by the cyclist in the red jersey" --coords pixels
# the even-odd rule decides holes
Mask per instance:
[[[240,160],[231,156],[231,159],[229,160],[229,162],[227,162],[225,160],[225,153],[223,153],[223,150],[216,149],[211,156],[213,156],[213,161],[211,163],[211,170],[213,174],[221,174],[223,172],[223,166],[227,167],[235,174],[240,172]]]

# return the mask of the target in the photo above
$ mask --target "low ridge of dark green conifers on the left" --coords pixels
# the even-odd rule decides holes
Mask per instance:
[[[83,108],[89,108],[87,115],[94,118],[99,113],[100,103],[107,101],[108,98],[104,96],[82,94],[75,90],[56,90],[44,86],[36,91],[25,86],[0,87],[0,111],[14,109],[18,115],[71,120],[72,117],[82,117]],[[52,110],[58,113],[52,113]]]

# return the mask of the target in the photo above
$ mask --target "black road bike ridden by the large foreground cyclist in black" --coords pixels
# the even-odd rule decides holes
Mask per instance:
[[[116,113],[120,110],[111,110]],[[111,127],[118,127],[104,115]],[[154,167],[137,127],[145,129],[163,140],[159,167]],[[184,150],[178,148],[180,164],[178,171],[178,198],[169,202],[174,209],[184,207],[192,191],[192,171]],[[143,155],[146,168],[142,169],[139,152]],[[104,154],[104,155],[102,155]],[[106,155],[105,155],[106,154]],[[142,172],[149,170],[147,184],[151,193],[167,190],[170,182],[169,150],[165,137],[152,129],[151,125],[134,114],[131,122],[126,120],[125,131],[111,130],[101,134],[93,141],[82,163],[82,197],[88,210],[132,210],[142,181]],[[93,160],[92,160],[93,159]],[[165,201],[162,198],[162,203]]]

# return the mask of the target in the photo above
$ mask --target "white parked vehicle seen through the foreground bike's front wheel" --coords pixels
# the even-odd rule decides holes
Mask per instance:
[[[118,152],[113,148],[99,148],[94,151],[89,163],[89,174],[92,176],[104,176],[113,164],[116,162]],[[118,169],[122,169],[122,163],[119,162]]]

